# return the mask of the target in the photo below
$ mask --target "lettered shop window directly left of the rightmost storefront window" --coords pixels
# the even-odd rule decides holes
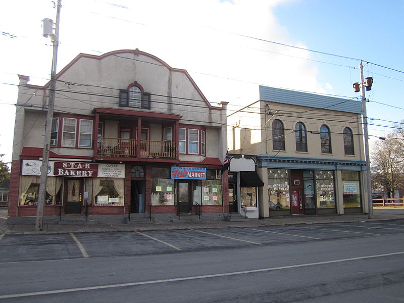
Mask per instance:
[[[330,209],[335,208],[335,189],[334,189],[334,172],[317,170],[316,174],[316,190],[317,190],[317,208]]]

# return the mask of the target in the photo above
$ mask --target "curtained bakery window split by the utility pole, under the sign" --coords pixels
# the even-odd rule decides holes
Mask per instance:
[[[21,176],[20,177],[20,206],[38,205],[39,176]],[[62,178],[47,177],[45,205],[62,205],[61,198]]]

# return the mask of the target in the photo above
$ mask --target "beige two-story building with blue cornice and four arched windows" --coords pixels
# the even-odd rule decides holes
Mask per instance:
[[[227,117],[229,188],[241,212],[261,218],[367,213],[361,114],[356,99],[260,86],[259,101]],[[245,208],[242,175],[254,165],[262,180],[251,181],[257,207]]]

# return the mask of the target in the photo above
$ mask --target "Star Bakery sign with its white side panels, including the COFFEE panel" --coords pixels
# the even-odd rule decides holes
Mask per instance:
[[[22,175],[40,176],[42,161],[23,160]],[[48,176],[124,178],[125,165],[114,163],[54,162],[49,161]]]

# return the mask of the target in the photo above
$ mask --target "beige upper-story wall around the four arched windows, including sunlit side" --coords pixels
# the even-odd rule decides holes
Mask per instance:
[[[260,113],[260,105],[264,109],[265,104],[269,104],[270,114],[265,114],[264,110]],[[273,149],[272,122],[275,119],[282,121],[285,128],[285,150]],[[227,121],[228,146],[233,154],[364,160],[363,131],[359,114],[262,101],[230,115]],[[293,130],[297,122],[302,122],[306,126],[307,152],[296,151]],[[321,153],[319,132],[323,124],[327,125],[331,132],[331,154]],[[344,154],[345,127],[349,127],[354,134],[355,155]]]

